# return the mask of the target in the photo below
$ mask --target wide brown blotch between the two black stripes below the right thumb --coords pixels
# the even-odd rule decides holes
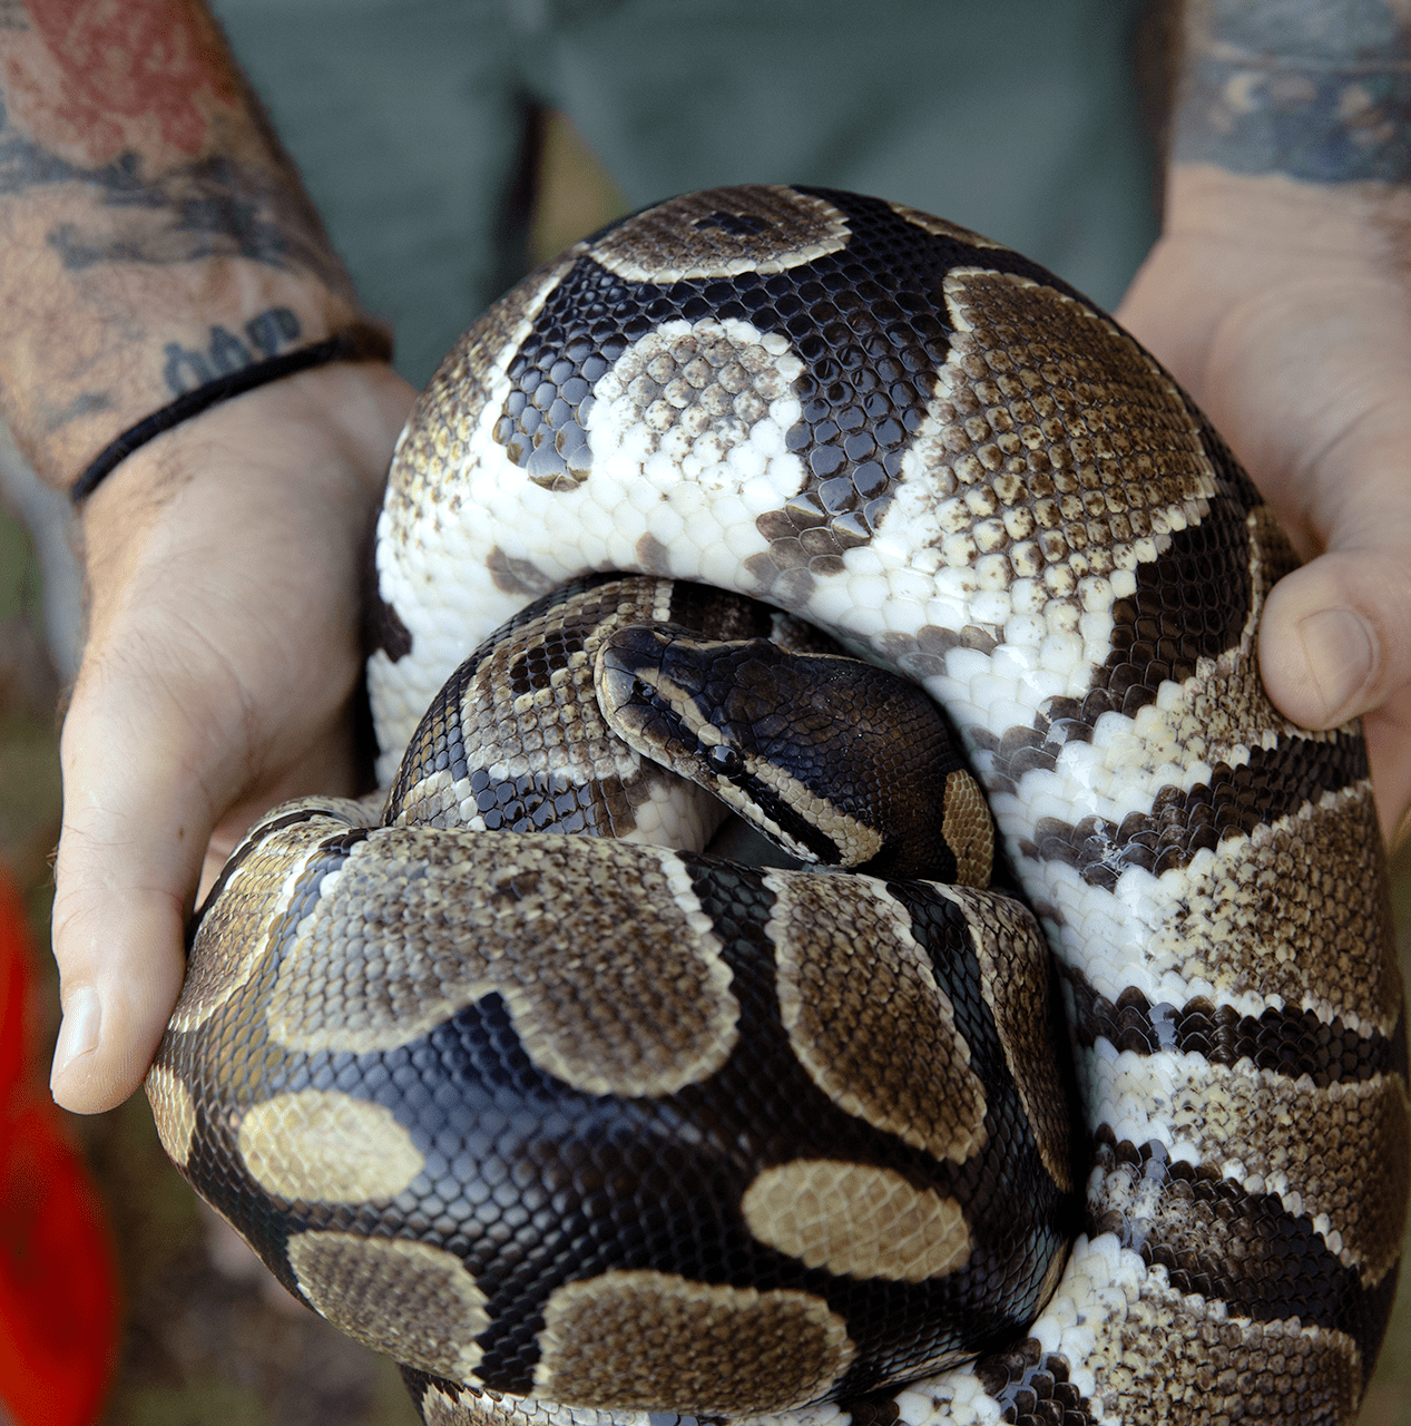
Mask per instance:
[[[1187,868],[1153,960],[1231,1000],[1278,995],[1390,1034],[1402,988],[1385,880],[1368,856],[1380,838],[1368,783],[1227,837]]]

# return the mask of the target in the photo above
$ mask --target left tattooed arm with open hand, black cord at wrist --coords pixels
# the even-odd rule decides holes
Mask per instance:
[[[197,0],[0,0],[0,304],[6,418],[64,489],[182,391],[365,321]],[[208,841],[352,790],[361,553],[409,402],[383,364],[305,371],[158,436],[84,508],[54,901],[73,1109],[141,1081]]]

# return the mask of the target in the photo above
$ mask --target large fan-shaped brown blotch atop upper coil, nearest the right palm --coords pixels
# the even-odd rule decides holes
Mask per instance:
[[[948,565],[1002,558],[1066,599],[1204,513],[1200,432],[1130,337],[1029,278],[958,268],[945,295],[956,332],[884,529],[929,508]]]

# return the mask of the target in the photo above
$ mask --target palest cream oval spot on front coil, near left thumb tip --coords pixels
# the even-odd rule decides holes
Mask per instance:
[[[251,1178],[291,1202],[395,1198],[425,1166],[391,1109],[338,1089],[299,1089],[252,1104],[237,1144]]]

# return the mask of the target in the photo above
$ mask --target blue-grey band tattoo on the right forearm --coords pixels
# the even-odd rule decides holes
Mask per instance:
[[[1407,0],[1189,0],[1174,157],[1304,183],[1411,178]]]

